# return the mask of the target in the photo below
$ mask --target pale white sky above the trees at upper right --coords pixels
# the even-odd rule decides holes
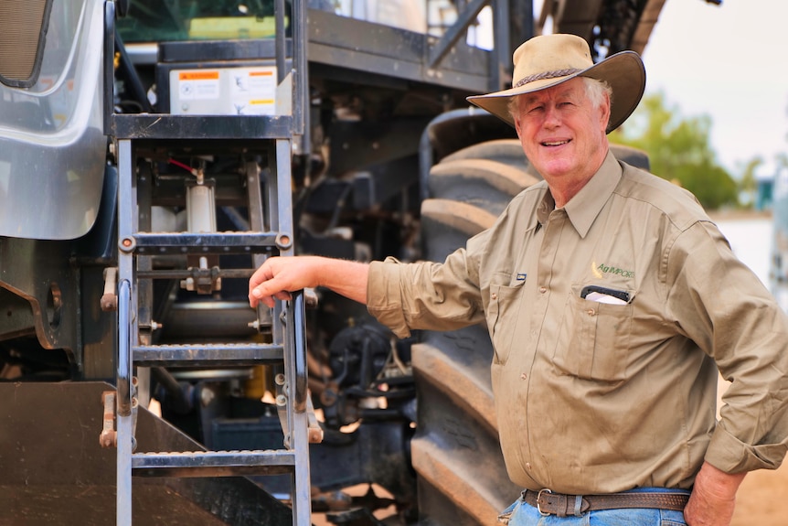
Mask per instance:
[[[541,0],[534,0],[538,14]],[[646,94],[684,118],[711,118],[711,147],[735,177],[761,156],[788,154],[788,2],[666,0],[643,52]]]

